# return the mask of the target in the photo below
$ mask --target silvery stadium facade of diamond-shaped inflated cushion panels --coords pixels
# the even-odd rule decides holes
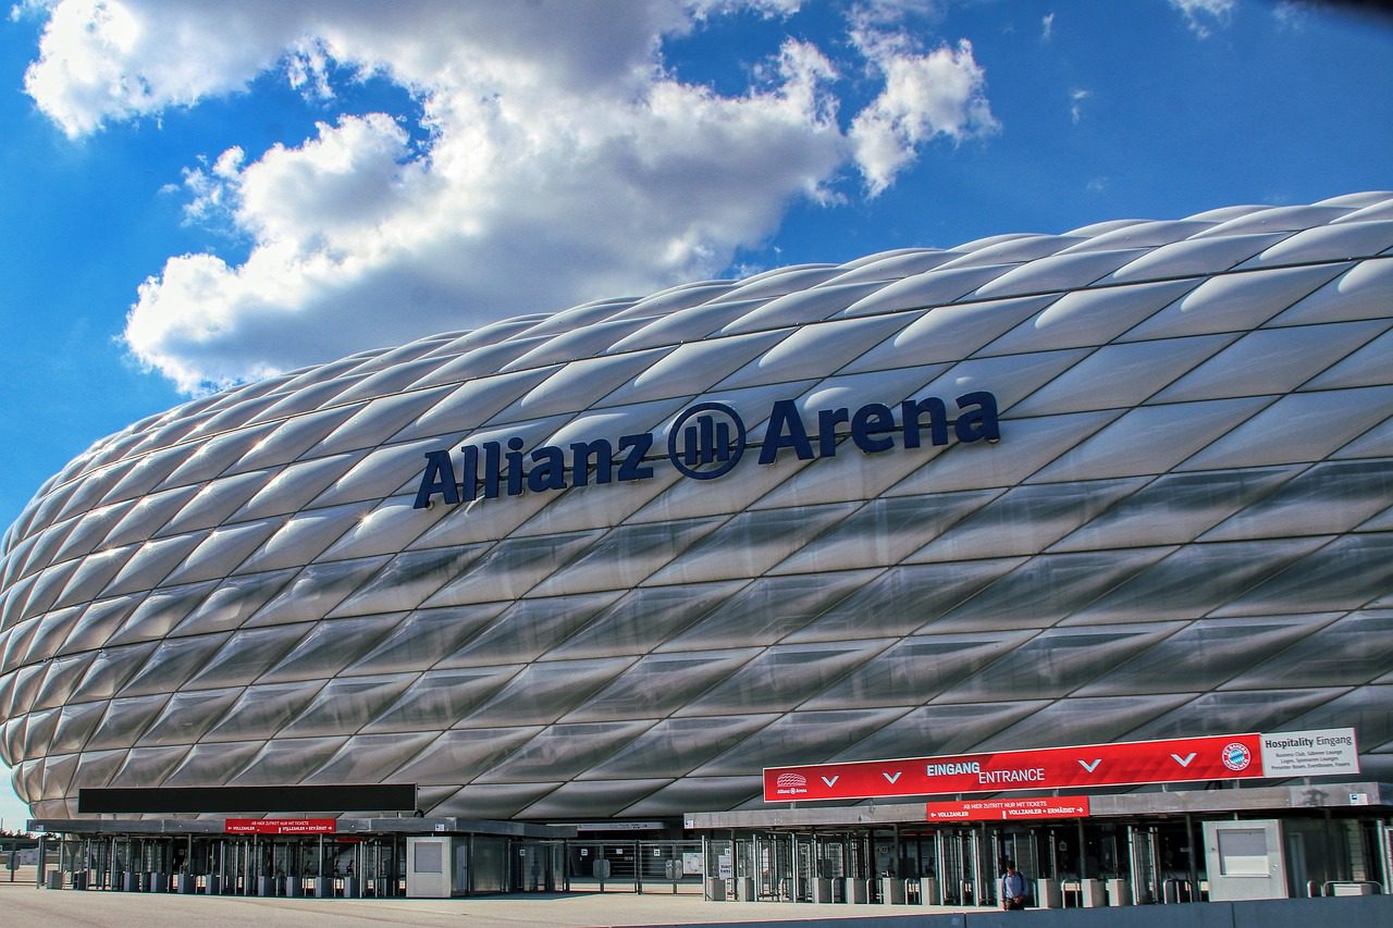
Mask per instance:
[[[1393,779],[1393,194],[701,281],[102,439],[4,539],[0,757],[762,808],[761,771],[1350,726]]]

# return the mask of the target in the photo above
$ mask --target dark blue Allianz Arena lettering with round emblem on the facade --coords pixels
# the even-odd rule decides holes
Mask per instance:
[[[655,465],[666,458],[684,477],[709,481],[724,477],[740,464],[747,450],[758,449],[761,464],[775,464],[790,453],[801,461],[834,457],[840,442],[864,454],[883,454],[896,449],[924,444],[947,444],[1000,439],[996,396],[986,390],[964,393],[947,403],[939,397],[904,400],[897,405],[866,403],[857,410],[833,407],[808,414],[798,411],[795,400],[776,400],[769,410],[763,442],[747,440],[740,414],[724,403],[698,403],[684,410],[667,429],[666,447],[655,451],[657,438],[649,432],[623,435],[617,442],[595,439],[573,442],[568,447],[540,444],[531,451],[527,442],[513,436],[503,442],[481,442],[460,447],[426,451],[426,467],[417,490],[415,509],[429,509],[436,497],[454,506],[475,499],[546,493],[571,486],[644,481],[655,475]]]

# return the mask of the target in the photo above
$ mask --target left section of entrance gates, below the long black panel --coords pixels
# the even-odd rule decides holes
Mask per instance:
[[[235,835],[224,819],[29,825],[47,832],[38,883],[49,889],[384,899],[703,888],[699,837],[577,837],[566,825],[457,818],[306,821],[334,830]]]

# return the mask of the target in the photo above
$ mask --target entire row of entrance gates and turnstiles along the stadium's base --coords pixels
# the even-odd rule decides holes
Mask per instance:
[[[1067,797],[1064,797],[1067,798]],[[579,835],[458,818],[33,821],[40,886],[205,895],[449,897],[496,892],[997,904],[1014,860],[1035,904],[1393,892],[1393,786],[1091,796],[1087,817],[928,821],[925,803],[690,812]],[[280,833],[231,833],[238,828]],[[249,823],[251,822],[251,823]],[[605,823],[602,823],[605,825]],[[301,833],[301,828],[325,833]]]

